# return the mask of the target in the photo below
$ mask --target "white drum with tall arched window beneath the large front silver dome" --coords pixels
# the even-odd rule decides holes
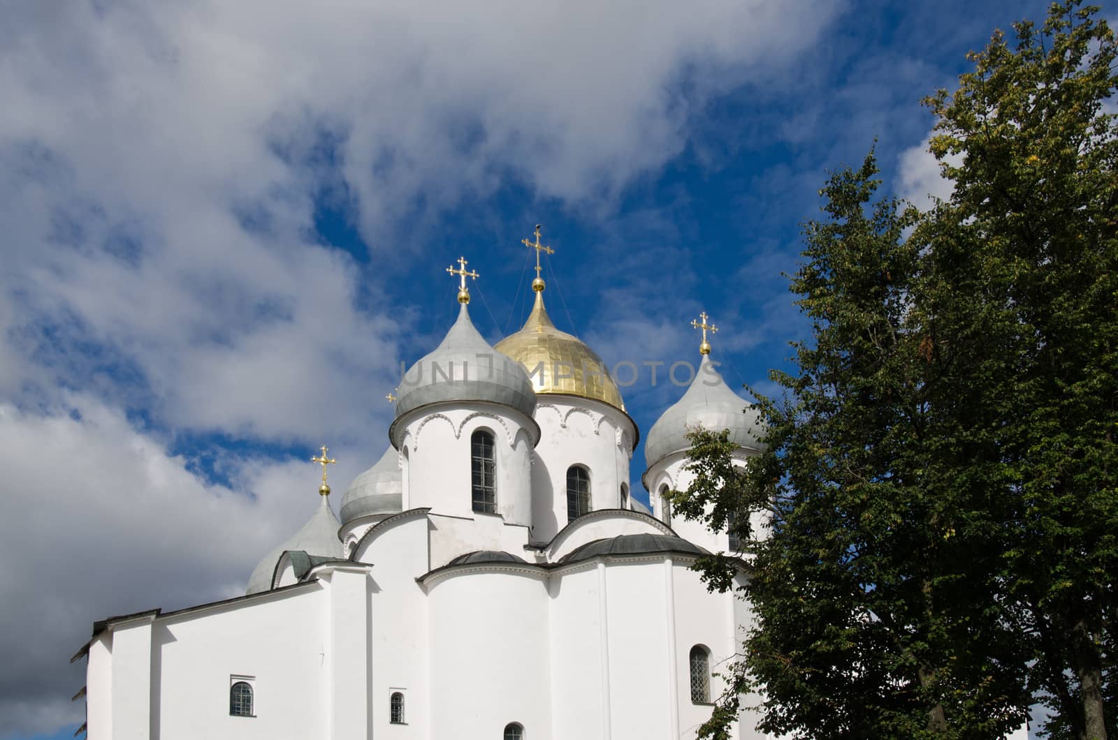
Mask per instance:
[[[400,444],[407,448],[404,501],[407,509],[430,506],[438,514],[470,518],[470,436],[493,434],[498,513],[514,524],[531,524],[531,453],[536,434],[518,411],[495,404],[439,404],[411,412]]]

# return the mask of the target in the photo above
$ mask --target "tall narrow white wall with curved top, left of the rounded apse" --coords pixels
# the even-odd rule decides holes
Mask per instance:
[[[434,711],[428,689],[427,597],[416,577],[429,569],[428,520],[411,515],[378,532],[362,552],[369,585],[370,737],[418,739]],[[389,701],[404,694],[406,724],[391,724]]]

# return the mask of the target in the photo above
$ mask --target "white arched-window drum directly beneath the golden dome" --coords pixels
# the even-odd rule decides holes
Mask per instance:
[[[636,429],[608,404],[575,396],[539,396],[540,443],[532,458],[532,539],[547,542],[567,525],[567,468],[590,472],[590,509],[620,507]]]

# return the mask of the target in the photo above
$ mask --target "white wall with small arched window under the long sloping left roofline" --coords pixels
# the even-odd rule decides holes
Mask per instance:
[[[324,586],[309,584],[159,619],[160,740],[329,737],[329,614]],[[250,677],[255,717],[229,714],[234,675]]]

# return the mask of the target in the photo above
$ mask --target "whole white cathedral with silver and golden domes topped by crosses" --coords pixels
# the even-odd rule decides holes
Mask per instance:
[[[733,552],[673,519],[689,428],[728,428],[743,464],[758,419],[710,361],[638,429],[584,342],[536,303],[491,347],[458,319],[397,389],[388,448],[260,560],[243,597],[94,625],[93,740],[678,740],[723,691],[748,604],[691,565]],[[693,322],[694,323],[694,322]],[[381,443],[370,440],[370,459]],[[748,578],[745,565],[738,575]],[[745,705],[751,702],[747,699]],[[765,737],[745,710],[741,740]]]

